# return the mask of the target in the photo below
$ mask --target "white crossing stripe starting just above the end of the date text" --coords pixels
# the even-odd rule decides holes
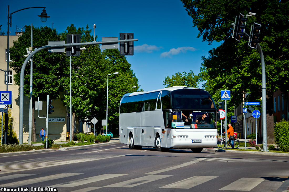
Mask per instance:
[[[127,174],[97,175],[97,176],[88,177],[88,178],[84,178],[84,179],[79,179],[79,180],[75,180],[75,181],[60,183],[60,184],[52,185],[52,186],[49,186],[49,187],[76,187],[76,186],[79,186],[79,185],[84,185],[84,184],[97,182],[97,181],[101,181],[101,180],[105,180],[105,179],[110,179],[110,178],[114,178],[114,177],[119,177],[119,176],[123,176],[123,175],[127,175]]]

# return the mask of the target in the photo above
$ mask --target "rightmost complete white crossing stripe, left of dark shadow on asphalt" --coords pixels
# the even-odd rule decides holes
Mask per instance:
[[[265,179],[263,178],[240,178],[231,184],[219,189],[219,190],[230,190],[230,191],[250,191],[257,185],[259,185]]]

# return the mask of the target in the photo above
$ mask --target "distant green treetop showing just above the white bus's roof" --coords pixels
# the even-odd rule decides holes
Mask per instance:
[[[164,86],[172,87],[172,86],[187,86],[187,87],[198,87],[199,77],[194,75],[192,70],[189,73],[183,72],[182,74],[176,73],[170,78],[166,76],[164,79]]]

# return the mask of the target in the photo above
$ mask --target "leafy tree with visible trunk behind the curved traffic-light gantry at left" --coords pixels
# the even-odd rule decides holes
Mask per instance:
[[[48,41],[61,40],[56,29],[50,27],[33,27],[33,48],[48,45]],[[31,46],[31,26],[25,26],[25,31],[13,42],[9,49],[13,61],[9,66],[16,72],[14,80],[20,85],[21,67],[25,61],[23,55],[27,54],[26,48]],[[47,50],[37,52],[33,56],[33,103],[37,97],[46,101],[47,95],[51,99],[58,99],[64,91],[62,77],[67,62],[64,53],[49,53]],[[30,62],[27,63],[30,66]],[[47,83],[49,82],[49,83]],[[24,71],[24,96],[30,95],[30,67]],[[32,106],[32,119],[34,119],[34,106]],[[35,125],[32,123],[32,142],[36,142]]]

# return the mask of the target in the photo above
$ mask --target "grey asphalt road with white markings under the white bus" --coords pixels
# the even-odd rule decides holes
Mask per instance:
[[[263,192],[289,186],[289,157],[131,150],[121,143],[0,157],[0,169],[0,191]]]

